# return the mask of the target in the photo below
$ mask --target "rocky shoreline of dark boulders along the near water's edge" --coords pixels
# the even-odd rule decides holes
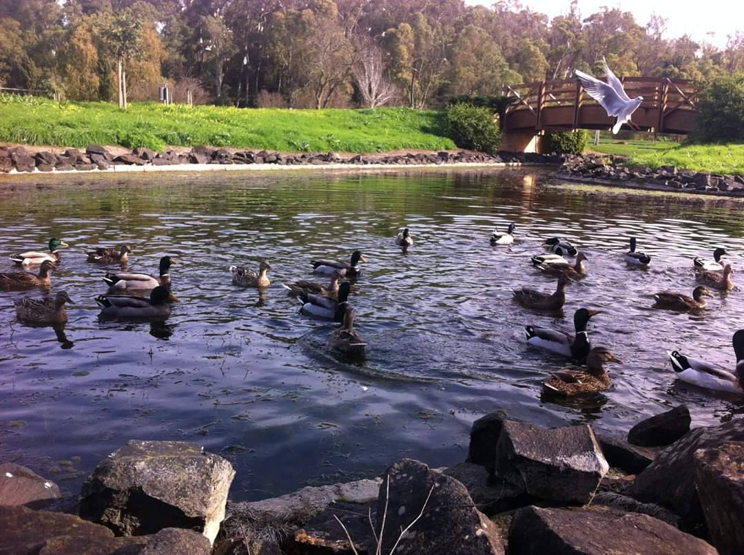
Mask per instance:
[[[690,430],[684,405],[627,439],[496,411],[473,423],[455,466],[403,459],[375,479],[236,503],[224,458],[132,440],[72,498],[23,466],[0,465],[0,552],[743,553],[743,460],[744,419]]]

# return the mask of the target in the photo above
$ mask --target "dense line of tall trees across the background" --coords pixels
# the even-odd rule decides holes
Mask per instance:
[[[626,75],[744,71],[744,33],[718,49],[665,23],[575,1],[549,20],[513,0],[0,0],[0,87],[124,106],[168,83],[178,101],[421,108],[598,71],[603,56]]]

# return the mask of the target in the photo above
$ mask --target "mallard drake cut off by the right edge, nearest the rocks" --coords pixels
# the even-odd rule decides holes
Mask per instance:
[[[734,333],[731,342],[737,356],[737,365],[733,372],[710,362],[693,359],[678,350],[668,353],[669,360],[677,377],[683,382],[716,391],[744,394],[744,330]]]

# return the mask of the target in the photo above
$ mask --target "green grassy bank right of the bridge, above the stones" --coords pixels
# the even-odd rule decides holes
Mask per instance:
[[[631,164],[744,175],[744,144],[678,144],[659,141],[626,141],[626,144],[589,145],[599,153],[628,156]]]

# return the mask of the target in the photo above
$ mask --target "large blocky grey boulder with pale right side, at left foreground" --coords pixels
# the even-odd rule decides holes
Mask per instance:
[[[118,536],[176,527],[214,542],[234,475],[224,458],[191,443],[132,440],[83,484],[80,516]]]

